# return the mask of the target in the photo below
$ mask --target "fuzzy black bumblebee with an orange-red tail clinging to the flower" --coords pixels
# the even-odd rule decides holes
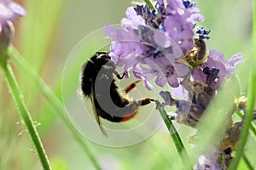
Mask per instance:
[[[125,77],[125,73],[120,76],[116,71],[116,65],[111,60],[108,52],[96,52],[87,61],[81,71],[81,90],[85,98],[91,101],[96,122],[102,133],[108,136],[100,117],[110,122],[125,122],[137,115],[142,105],[148,105],[154,99],[130,99],[127,94],[137,86],[137,82],[121,90],[117,85],[117,79]]]

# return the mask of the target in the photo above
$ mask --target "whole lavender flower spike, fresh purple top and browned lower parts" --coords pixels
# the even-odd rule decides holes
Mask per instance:
[[[154,8],[147,4],[127,8],[121,27],[105,27],[113,40],[109,55],[116,65],[124,67],[125,77],[133,71],[148,89],[153,88],[149,82],[153,79],[161,88],[168,84],[175,97],[161,91],[162,108],[175,106],[176,116],[170,118],[190,127],[196,127],[221,85],[245,62],[242,54],[226,59],[215,49],[207,50],[205,40],[210,38],[210,31],[195,27],[195,22],[202,20],[195,3],[188,0],[166,0],[166,4],[155,0]],[[235,123],[225,131],[234,144],[241,124]],[[223,149],[226,153],[222,155],[215,148],[207,151],[194,169],[221,169],[218,156],[226,156],[224,165],[228,167],[232,150]]]

